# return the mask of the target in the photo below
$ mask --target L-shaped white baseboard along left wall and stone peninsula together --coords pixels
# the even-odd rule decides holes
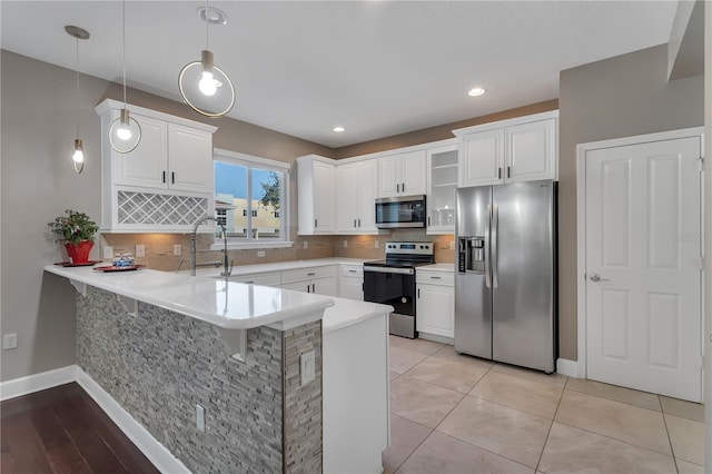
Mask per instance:
[[[33,392],[77,382],[101,407],[109,418],[131,440],[136,447],[162,473],[190,473],[170,451],[160,444],[140,423],[99,386],[86,372],[76,365],[14,378],[0,383],[0,401],[28,395]]]

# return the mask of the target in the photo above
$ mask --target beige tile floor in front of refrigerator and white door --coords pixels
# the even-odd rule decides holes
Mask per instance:
[[[702,405],[390,336],[386,473],[703,473]]]

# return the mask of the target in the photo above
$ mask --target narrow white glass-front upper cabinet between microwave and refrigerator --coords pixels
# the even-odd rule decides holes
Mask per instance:
[[[449,140],[448,140],[449,141]],[[457,142],[427,150],[427,234],[455,233]]]

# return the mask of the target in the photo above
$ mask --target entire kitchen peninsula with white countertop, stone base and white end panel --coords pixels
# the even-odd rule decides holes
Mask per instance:
[[[150,269],[44,270],[79,293],[78,366],[190,472],[380,471],[389,306]]]

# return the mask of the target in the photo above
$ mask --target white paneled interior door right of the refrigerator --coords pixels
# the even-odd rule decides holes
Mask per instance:
[[[586,151],[587,377],[701,402],[700,137]]]

